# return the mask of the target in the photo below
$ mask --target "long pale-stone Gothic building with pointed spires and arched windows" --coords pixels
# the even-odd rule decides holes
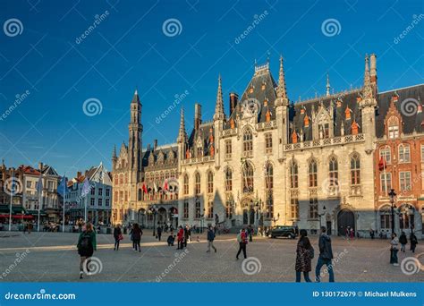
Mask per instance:
[[[182,111],[177,143],[143,151],[136,92],[129,145],[113,155],[114,222],[152,222],[155,207],[158,221],[178,224],[376,229],[374,152],[383,124],[378,109],[386,103],[376,62],[366,56],[362,88],[330,94],[327,79],[325,96],[296,103],[282,59],[278,82],[269,64],[255,66],[241,98],[230,94],[228,115],[219,78],[212,121],[202,121],[196,104],[190,133]],[[166,192],[170,180],[178,181],[177,193]]]

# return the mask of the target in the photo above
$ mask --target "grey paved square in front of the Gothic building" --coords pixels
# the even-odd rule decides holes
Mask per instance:
[[[163,238],[166,238],[164,234]],[[196,237],[194,237],[196,238]],[[238,243],[235,235],[216,238],[217,252],[206,252],[206,234],[191,242],[184,251],[166,242],[157,242],[145,230],[141,252],[132,251],[128,235],[119,251],[114,251],[112,235],[98,234],[98,251],[91,276],[79,279],[79,260],[75,244],[78,234],[32,233],[0,234],[1,282],[293,282],[297,240],[254,237],[247,246],[248,260],[236,260]],[[336,282],[420,282],[424,271],[406,275],[402,264],[389,264],[389,241],[360,239],[346,241],[333,237]],[[318,259],[318,237],[311,236],[315,249],[312,269]],[[422,243],[412,254],[399,252],[399,263],[424,251]],[[17,259],[20,259],[19,262]],[[421,256],[422,263],[423,257]],[[411,271],[417,261],[409,259]],[[313,271],[312,271],[313,272]],[[323,281],[328,281],[324,269]],[[313,276],[313,274],[311,273]]]

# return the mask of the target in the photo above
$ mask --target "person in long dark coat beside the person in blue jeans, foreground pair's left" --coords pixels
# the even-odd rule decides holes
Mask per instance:
[[[303,272],[305,282],[310,283],[311,261],[314,258],[314,248],[310,244],[310,239],[307,237],[308,232],[306,230],[301,229],[300,235],[301,238],[299,242],[297,242],[296,264],[294,267],[296,271],[296,283],[301,282],[301,272]]]

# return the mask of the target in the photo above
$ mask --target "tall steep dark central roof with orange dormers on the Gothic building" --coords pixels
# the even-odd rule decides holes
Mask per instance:
[[[264,86],[263,86],[264,85]],[[244,90],[242,96],[239,98],[237,107],[232,114],[230,114],[228,120],[225,122],[225,129],[230,129],[230,120],[233,118],[235,121],[236,114],[242,115],[242,104],[248,99],[257,99],[259,102],[259,114],[258,122],[262,123],[266,121],[267,110],[271,112],[271,120],[276,119],[275,112],[275,101],[276,101],[276,81],[274,80],[270,70],[269,64],[255,67],[255,73],[251,78],[247,88]],[[267,99],[267,106],[264,106],[264,101]]]

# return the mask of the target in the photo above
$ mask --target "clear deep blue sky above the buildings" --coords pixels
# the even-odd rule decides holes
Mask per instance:
[[[143,145],[170,143],[179,111],[160,123],[156,118],[175,95],[188,92],[180,106],[191,128],[195,102],[204,120],[212,118],[219,73],[228,112],[229,92],[242,94],[255,59],[264,64],[269,57],[277,79],[280,54],[292,100],[324,94],[326,72],[335,91],[361,86],[366,53],[377,54],[380,91],[422,83],[423,11],[421,1],[411,0],[3,0],[0,157],[7,166],[42,161],[71,175],[100,161],[110,169],[114,144],[119,149],[128,142],[135,88],[143,105]],[[17,32],[5,26],[11,19],[21,22]],[[164,32],[169,19],[181,24],[176,33]],[[326,22],[335,32],[323,30]],[[84,113],[89,98],[101,103],[100,114]]]

